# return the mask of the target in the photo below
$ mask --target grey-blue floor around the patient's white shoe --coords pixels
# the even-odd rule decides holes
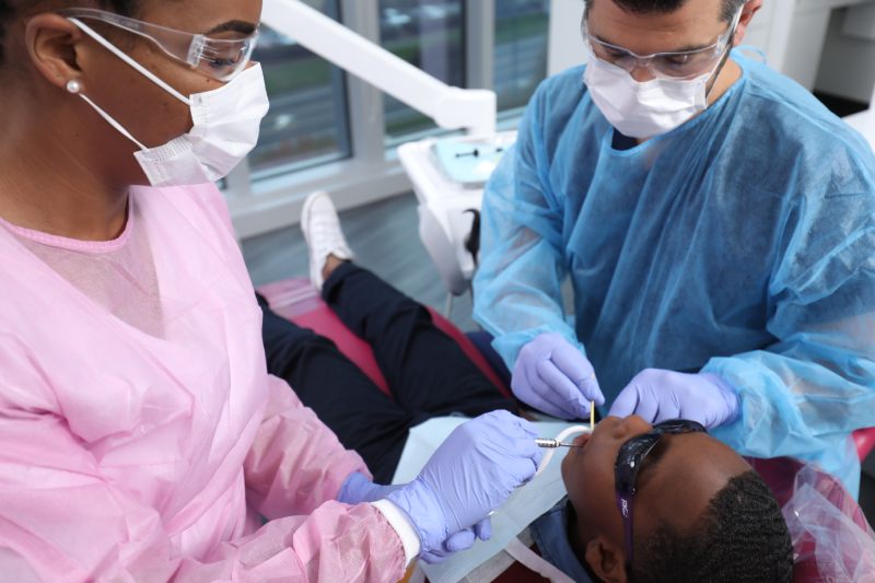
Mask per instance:
[[[360,265],[443,312],[446,290],[419,241],[412,194],[343,212],[340,221]],[[306,245],[298,226],[244,241],[243,255],[256,285],[308,272]],[[451,319],[464,330],[476,329],[470,311],[470,296],[459,298]],[[870,522],[875,522],[875,479],[863,477],[860,500]]]

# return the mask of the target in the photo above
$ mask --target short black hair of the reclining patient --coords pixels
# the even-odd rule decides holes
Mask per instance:
[[[692,530],[667,525],[635,540],[635,583],[784,583],[793,546],[781,509],[754,471],[736,476],[711,500]]]

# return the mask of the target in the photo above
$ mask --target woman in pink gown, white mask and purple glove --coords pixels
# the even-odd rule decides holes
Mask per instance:
[[[497,412],[376,486],[267,374],[210,182],[267,110],[260,9],[0,0],[4,580],[397,581],[537,467]]]

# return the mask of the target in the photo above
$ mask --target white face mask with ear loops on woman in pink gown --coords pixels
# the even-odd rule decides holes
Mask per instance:
[[[188,133],[164,145],[148,148],[97,104],[85,95],[80,95],[114,128],[140,148],[133,155],[152,186],[186,186],[219,180],[228,176],[255,148],[261,119],[269,108],[260,65],[249,67],[217,90],[186,97],[91,27],[77,19],[70,20],[147,79],[188,105],[191,110],[194,127]],[[77,85],[68,84],[68,90],[71,93],[79,92]]]

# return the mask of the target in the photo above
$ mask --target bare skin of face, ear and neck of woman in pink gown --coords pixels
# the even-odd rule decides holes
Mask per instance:
[[[142,20],[191,32],[232,20],[255,24],[261,8],[260,0],[143,0],[142,4],[148,12],[138,15]],[[114,36],[112,26],[89,24],[183,95],[221,86],[149,42],[131,39],[124,33]],[[65,67],[58,69],[61,75],[38,70],[25,49],[23,35],[23,21],[10,27],[9,65],[4,68],[10,77],[0,81],[10,90],[0,96],[4,105],[0,118],[9,119],[9,125],[0,127],[10,135],[8,145],[21,144],[8,149],[0,195],[15,193],[39,202],[13,201],[4,211],[35,229],[74,237],[112,238],[121,224],[122,196],[131,184],[145,184],[132,155],[138,147],[81,97],[65,91],[63,84],[79,80],[83,95],[147,147],[186,133],[191,127],[189,107],[83,33],[69,33],[69,44],[45,49],[45,56],[63,61]],[[75,203],[70,202],[73,198]],[[0,196],[0,206],[3,202]],[[45,209],[60,219],[44,220]]]

